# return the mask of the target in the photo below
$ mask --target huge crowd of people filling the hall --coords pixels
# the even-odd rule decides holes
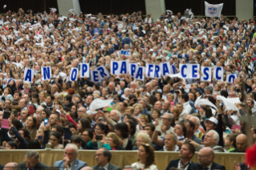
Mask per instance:
[[[0,148],[28,150],[24,163],[6,169],[46,166],[33,151],[45,148],[65,149],[63,160],[53,165],[65,170],[90,169],[76,159],[86,149],[96,150],[92,169],[120,169],[109,164],[110,150],[137,151],[138,161],[126,170],[156,170],[154,151],[180,152],[166,170],[226,169],[213,162],[214,153],[244,153],[248,141],[256,140],[254,127],[248,127],[254,120],[241,119],[256,113],[254,18],[195,18],[188,10],[184,16],[167,10],[153,21],[141,11],[108,16],[71,11],[65,17],[21,8],[1,14],[0,26]],[[90,77],[70,80],[80,63],[110,71],[111,61],[119,60],[140,67],[169,62],[178,72],[180,63],[218,66],[224,80],[166,75],[139,81],[129,74],[109,75],[100,83]],[[52,78],[43,80],[41,67],[47,66]],[[35,70],[31,83],[23,81],[25,68]],[[238,78],[228,83],[226,74]],[[238,100],[230,107],[218,96]],[[112,103],[94,114],[95,99]],[[195,152],[198,163],[191,161]],[[234,168],[247,169],[240,165]]]

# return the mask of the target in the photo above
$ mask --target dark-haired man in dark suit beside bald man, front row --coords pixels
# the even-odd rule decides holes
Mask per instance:
[[[180,159],[178,160],[171,160],[168,164],[167,168],[165,170],[169,170],[170,168],[179,168],[179,169],[185,169],[190,170],[192,168],[192,165],[194,164],[191,159],[193,155],[195,154],[195,147],[193,144],[190,144],[189,142],[185,142],[181,145],[181,150],[179,153]]]

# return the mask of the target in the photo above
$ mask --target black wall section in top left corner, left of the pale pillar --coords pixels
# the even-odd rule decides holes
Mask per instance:
[[[57,0],[2,0],[0,1],[0,13],[4,13],[3,6],[6,5],[6,10],[11,10],[17,12],[19,8],[22,8],[25,12],[27,10],[33,10],[35,13],[47,11],[49,14],[50,7],[54,7],[57,9],[57,14],[59,14],[58,10],[58,2]]]

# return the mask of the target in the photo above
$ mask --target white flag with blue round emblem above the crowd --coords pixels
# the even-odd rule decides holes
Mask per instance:
[[[222,7],[223,7],[223,3],[213,5],[213,4],[209,4],[208,2],[205,2],[205,16],[220,18]]]

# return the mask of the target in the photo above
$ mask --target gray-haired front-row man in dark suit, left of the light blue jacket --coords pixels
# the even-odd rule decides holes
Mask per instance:
[[[37,151],[26,152],[24,162],[22,162],[21,164],[18,164],[18,166],[21,170],[27,170],[27,169],[44,170],[47,168],[46,164],[43,164],[40,162],[39,152]]]

